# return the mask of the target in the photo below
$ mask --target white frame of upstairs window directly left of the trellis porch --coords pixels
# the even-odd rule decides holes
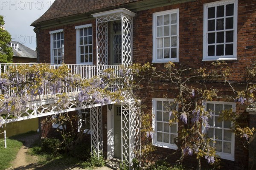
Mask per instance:
[[[86,65],[92,65],[93,64],[93,52],[92,53],[88,53],[92,55],[92,62],[81,62],[81,59],[80,59],[80,45],[79,45],[79,37],[80,37],[80,29],[83,29],[83,28],[92,28],[92,50],[93,50],[93,27],[92,27],[92,24],[85,24],[85,25],[82,25],[82,26],[76,26],[75,29],[76,29],[76,64],[86,64]],[[84,45],[83,45],[84,46]],[[84,52],[84,54],[86,54]]]

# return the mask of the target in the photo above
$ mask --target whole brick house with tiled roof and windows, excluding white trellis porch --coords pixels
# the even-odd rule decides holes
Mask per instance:
[[[124,0],[116,3],[113,1],[108,2],[109,4],[107,4],[107,2],[102,3],[99,1],[101,5],[96,5],[95,2],[88,2],[89,4],[87,5],[89,7],[87,9],[82,9],[85,5],[82,4],[82,1],[80,2],[79,0],[76,0],[76,3],[67,3],[66,0],[55,0],[44,15],[32,23],[32,26],[35,26],[35,32],[37,34],[37,50],[40,62],[51,63],[56,59],[57,62],[62,61],[67,64],[86,64],[84,61],[87,59],[90,64],[96,65],[96,19],[92,14],[119,8],[126,8],[135,13],[132,28],[133,63],[144,64],[146,62],[151,62],[157,68],[163,68],[163,65],[167,61],[173,61],[177,65],[187,65],[196,69],[204,65],[209,66],[212,61],[217,59],[223,59],[226,60],[228,66],[232,69],[232,81],[243,82],[246,76],[246,68],[252,67],[253,61],[255,60],[256,0],[161,0],[158,3],[155,3],[152,0]],[[73,10],[73,13],[69,14],[68,11],[72,11],[72,9],[76,7],[75,4],[81,6],[78,7],[77,10]],[[69,8],[67,9],[67,13],[63,12],[65,11],[65,5]],[[231,13],[230,8],[233,9],[233,11],[231,10]],[[215,10],[213,16],[211,15],[212,13],[210,10]],[[165,19],[163,18],[165,16],[169,17],[169,20],[171,20],[170,23],[164,23]],[[163,18],[161,19],[161,17]],[[161,22],[163,21],[164,24],[161,24],[165,26],[161,27],[161,24],[158,25],[158,19],[161,20]],[[211,23],[213,20],[215,23]],[[222,23],[223,25],[221,25],[221,22],[224,22],[225,24]],[[213,29],[210,28],[212,26],[211,24],[213,24]],[[232,25],[232,27],[229,27],[228,24]],[[206,25],[209,27],[208,29]],[[157,28],[162,29],[162,33],[159,33],[159,35]],[[78,37],[77,30],[81,29],[83,29],[84,32],[88,31],[88,35],[90,34],[90,36],[92,36],[92,42],[89,42],[89,45],[85,45],[84,48],[85,50],[88,47],[88,52],[83,53],[81,50],[77,50],[79,42],[77,39],[79,37],[86,37],[85,33],[84,36],[79,34]],[[91,29],[91,33],[89,29]],[[109,30],[111,29],[112,23],[109,24]],[[165,44],[168,48],[163,46],[159,48],[157,45],[160,46],[160,42],[157,42],[157,40],[160,40],[160,34],[165,34],[166,30],[168,30],[168,33],[166,33],[166,37],[163,38],[167,38],[171,41],[166,42]],[[63,33],[63,35],[61,35],[61,33]],[[51,46],[52,34],[63,36],[63,38],[60,37],[60,40],[64,40],[62,46],[64,52],[61,51],[60,53],[62,54],[60,55],[54,56],[51,52],[54,48]],[[110,35],[113,33],[110,32],[108,34]],[[231,38],[230,34],[232,34]],[[161,40],[163,41],[166,39]],[[108,40],[108,43],[111,43],[111,41],[113,40]],[[62,42],[60,43],[62,44]],[[92,48],[91,52],[90,45]],[[62,50],[62,48],[60,45],[58,49]],[[165,53],[166,49],[168,54]],[[108,50],[110,51],[110,47]],[[79,58],[77,57],[78,52]],[[214,54],[212,54],[212,52]],[[90,55],[92,55],[92,61],[90,61]],[[111,52],[108,54],[108,57],[110,57],[110,55]],[[164,55],[167,55],[168,59],[166,59]],[[83,57],[80,58],[80,56]],[[78,62],[78,59],[81,60]],[[113,64],[113,61],[109,60],[108,64]],[[156,88],[164,87],[156,85]],[[219,90],[227,95],[231,93],[223,86],[219,86]],[[154,114],[154,111],[152,113],[152,106],[154,107],[155,102],[164,101],[163,93],[152,93],[147,89],[137,91],[136,93],[140,96],[143,104],[147,106],[147,109],[145,109],[145,112],[147,113]],[[173,96],[170,94],[168,98],[172,99]],[[234,102],[227,103],[226,101],[216,101],[209,104],[212,104],[214,107],[217,107],[217,105],[221,105],[221,107],[230,105],[233,107],[233,105],[235,105],[235,107],[233,107],[234,111],[248,115],[244,105],[236,105]],[[106,157],[108,156],[108,114],[109,111],[107,106],[103,106],[102,136],[103,151]],[[154,120],[152,121],[154,122]],[[48,133],[48,136],[52,135],[53,131],[51,127],[48,127],[47,129],[44,127],[42,128]],[[180,128],[180,125],[178,125],[177,130]],[[46,137],[47,133],[43,136]],[[175,135],[175,133],[170,133],[169,135]],[[228,142],[224,139],[220,141],[222,142],[220,145],[223,148],[225,141],[228,145],[226,151],[224,151],[224,149],[220,151],[220,154],[223,153],[221,164],[225,169],[230,170],[247,169],[249,160],[248,151],[243,148],[238,139],[235,139],[234,136],[231,137],[231,133],[230,138],[233,139],[227,139]],[[157,146],[157,150],[154,153],[155,157],[152,159],[164,157],[174,152],[175,147],[173,147],[170,142],[169,144],[165,144],[166,142],[163,142],[162,139],[162,142],[160,143],[161,144],[158,142],[154,143],[154,145]],[[178,157],[179,155],[171,156],[169,157],[169,161],[174,162]],[[184,162],[194,167],[196,164],[195,158],[193,157],[191,159],[185,159]],[[203,164],[207,163],[204,162]]]

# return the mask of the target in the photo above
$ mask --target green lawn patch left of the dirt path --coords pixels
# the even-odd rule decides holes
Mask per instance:
[[[0,139],[2,141],[3,139]],[[7,139],[7,148],[4,148],[4,142],[0,143],[0,170],[5,170],[12,166],[17,152],[22,146],[22,142],[13,139]]]

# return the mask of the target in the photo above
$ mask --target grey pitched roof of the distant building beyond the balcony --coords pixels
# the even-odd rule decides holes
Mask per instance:
[[[18,44],[18,50],[12,48],[14,57],[26,57],[26,58],[36,58],[36,51],[28,48],[27,46],[21,44],[20,42],[11,41],[12,43]]]

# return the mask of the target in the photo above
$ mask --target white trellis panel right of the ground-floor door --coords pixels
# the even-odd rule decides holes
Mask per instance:
[[[121,105],[121,142],[122,162],[128,162],[140,156],[140,112],[134,107],[134,101]]]

